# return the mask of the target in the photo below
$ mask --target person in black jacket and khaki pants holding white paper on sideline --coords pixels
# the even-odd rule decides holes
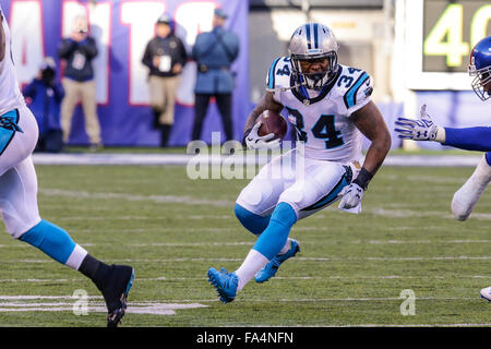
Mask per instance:
[[[172,25],[172,19],[167,13],[158,17],[156,35],[146,45],[142,59],[142,63],[148,68],[154,128],[161,132],[161,147],[166,147],[169,142],[173,124],[176,91],[182,68],[188,61],[185,47],[173,34]]]

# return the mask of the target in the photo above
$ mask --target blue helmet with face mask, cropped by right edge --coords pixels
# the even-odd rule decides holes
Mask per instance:
[[[479,98],[486,100],[491,97],[491,36],[476,44],[470,53],[469,75],[472,80],[472,89]],[[486,86],[488,85],[488,86]]]

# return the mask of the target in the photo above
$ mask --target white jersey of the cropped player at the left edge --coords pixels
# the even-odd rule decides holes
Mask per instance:
[[[0,8],[3,17],[2,26],[5,35],[5,57],[0,61],[0,116],[25,105],[24,97],[19,88],[17,75],[11,52],[11,37],[7,17]]]

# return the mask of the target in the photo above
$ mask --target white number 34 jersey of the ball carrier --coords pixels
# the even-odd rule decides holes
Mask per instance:
[[[266,76],[266,91],[288,110],[288,121],[303,141],[304,156],[313,159],[351,163],[361,159],[362,135],[350,120],[367,105],[373,92],[364,71],[339,64],[335,79],[321,93],[289,87],[297,84],[289,57],[276,59]]]

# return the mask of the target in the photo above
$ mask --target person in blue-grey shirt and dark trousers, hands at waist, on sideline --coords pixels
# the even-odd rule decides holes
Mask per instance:
[[[197,35],[192,49],[192,58],[197,65],[192,140],[201,139],[211,97],[216,99],[227,141],[233,139],[231,118],[233,75],[230,65],[239,55],[239,38],[224,27],[226,19],[227,14],[221,9],[215,9],[213,31]]]

